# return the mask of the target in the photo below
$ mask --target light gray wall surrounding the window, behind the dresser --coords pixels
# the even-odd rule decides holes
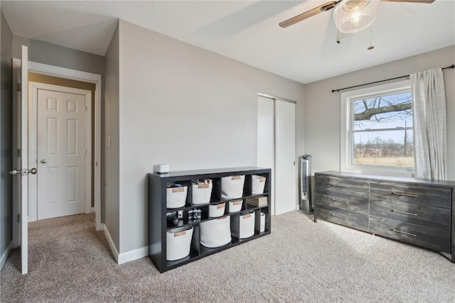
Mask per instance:
[[[305,151],[312,170],[340,170],[340,93],[331,89],[409,75],[455,63],[455,46],[305,85]],[[447,179],[455,180],[455,70],[444,70],[447,102]],[[402,79],[396,80],[400,81]]]

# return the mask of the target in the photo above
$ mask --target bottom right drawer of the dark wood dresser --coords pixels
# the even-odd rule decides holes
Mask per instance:
[[[370,232],[398,241],[450,253],[450,232],[370,216]]]

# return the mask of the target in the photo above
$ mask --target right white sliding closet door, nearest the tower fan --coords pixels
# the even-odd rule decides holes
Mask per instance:
[[[275,102],[275,214],[296,210],[296,105]]]

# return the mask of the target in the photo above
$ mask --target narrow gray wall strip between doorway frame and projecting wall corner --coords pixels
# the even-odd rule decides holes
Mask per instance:
[[[106,53],[105,87],[105,163],[102,167],[105,226],[119,248],[119,27],[114,32]],[[111,145],[109,146],[109,136]]]

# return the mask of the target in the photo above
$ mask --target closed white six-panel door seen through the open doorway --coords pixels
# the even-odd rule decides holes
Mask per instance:
[[[85,211],[85,96],[38,89],[38,220]]]

